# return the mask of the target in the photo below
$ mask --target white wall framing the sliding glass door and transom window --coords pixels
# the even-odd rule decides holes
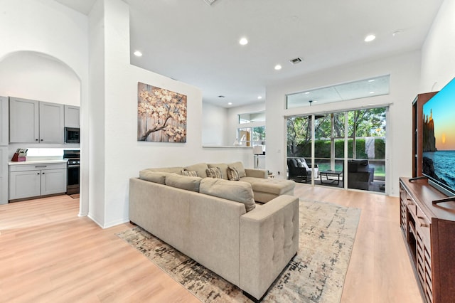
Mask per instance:
[[[368,97],[361,100],[336,102],[326,105],[285,110],[286,95],[291,92],[310,90],[315,87],[346,83],[390,74],[390,95]],[[370,105],[390,105],[387,124],[388,176],[390,194],[399,193],[400,176],[412,174],[412,100],[418,92],[420,77],[420,53],[402,53],[382,60],[359,62],[296,78],[281,85],[267,87],[267,169],[286,173],[285,116],[346,110]]]

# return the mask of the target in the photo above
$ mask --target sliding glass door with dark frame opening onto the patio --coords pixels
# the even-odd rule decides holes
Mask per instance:
[[[378,107],[287,118],[288,178],[311,183],[289,166],[314,163],[306,169],[316,185],[385,192],[386,113]]]

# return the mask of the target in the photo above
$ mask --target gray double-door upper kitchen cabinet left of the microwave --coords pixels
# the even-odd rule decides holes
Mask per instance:
[[[9,142],[63,144],[64,106],[9,97]]]

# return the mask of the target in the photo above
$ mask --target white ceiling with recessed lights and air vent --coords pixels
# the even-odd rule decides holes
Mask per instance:
[[[82,14],[95,2],[57,1]],[[200,87],[204,102],[235,107],[264,102],[267,85],[421,48],[443,0],[211,1],[124,0],[131,51],[143,53],[131,63]]]

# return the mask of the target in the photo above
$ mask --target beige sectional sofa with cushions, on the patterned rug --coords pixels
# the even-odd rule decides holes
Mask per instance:
[[[228,165],[245,172],[242,178],[265,179],[256,177],[265,172],[242,171],[239,162]],[[261,299],[297,252],[299,199],[277,195],[257,204],[254,182],[181,175],[203,174],[205,166],[141,171],[129,181],[129,218],[252,299]]]

